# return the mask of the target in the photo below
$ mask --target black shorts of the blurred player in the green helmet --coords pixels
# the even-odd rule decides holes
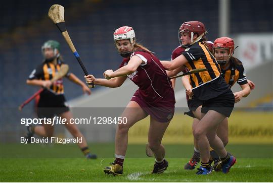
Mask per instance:
[[[69,111],[65,101],[64,95],[42,93],[37,105],[38,118],[52,118],[55,115]]]

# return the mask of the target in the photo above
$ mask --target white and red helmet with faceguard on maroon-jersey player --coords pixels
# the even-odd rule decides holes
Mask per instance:
[[[130,51],[125,51],[125,52],[123,51],[122,52],[118,48],[117,41],[124,40],[124,39],[129,39],[129,41],[131,43]],[[133,28],[128,27],[128,26],[123,26],[123,27],[116,29],[114,32],[114,41],[115,41],[115,46],[119,50],[119,53],[122,57],[130,56],[130,54],[133,52],[133,47],[135,44],[135,34],[134,34]]]

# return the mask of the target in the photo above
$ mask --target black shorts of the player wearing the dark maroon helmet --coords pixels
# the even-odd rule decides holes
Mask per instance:
[[[203,101],[201,108],[202,113],[207,113],[209,110],[219,112],[226,117],[230,117],[234,108],[235,97],[231,90],[209,100]]]

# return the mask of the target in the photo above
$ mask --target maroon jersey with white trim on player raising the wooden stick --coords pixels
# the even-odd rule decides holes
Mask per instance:
[[[144,50],[134,51],[130,57],[133,55],[139,56],[144,63],[128,78],[139,86],[139,92],[146,102],[164,99],[173,92],[171,81],[156,56]],[[128,62],[129,59],[124,58],[119,68],[126,66]]]

